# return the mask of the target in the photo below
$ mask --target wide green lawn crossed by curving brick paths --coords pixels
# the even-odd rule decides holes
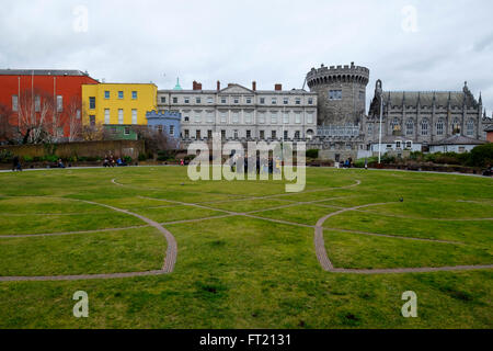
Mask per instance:
[[[342,188],[356,180],[362,183]],[[307,170],[306,190],[285,194],[282,181],[193,182],[180,167],[0,173],[0,276],[162,267],[167,241],[158,229],[83,201],[159,223],[196,220],[164,225],[177,242],[170,274],[0,282],[0,328],[493,328],[491,269],[325,272],[317,260],[313,228],[270,220],[313,226],[341,208],[391,203],[325,220],[325,248],[334,267],[493,264],[493,220],[484,219],[493,217],[491,179],[313,168]],[[237,201],[276,194],[283,195]],[[310,201],[316,203],[296,205]],[[223,211],[255,211],[263,219],[209,218]],[[85,230],[91,231],[20,237]],[[89,318],[72,316],[72,295],[80,290],[89,294]],[[417,318],[401,316],[401,295],[410,290],[417,294]]]

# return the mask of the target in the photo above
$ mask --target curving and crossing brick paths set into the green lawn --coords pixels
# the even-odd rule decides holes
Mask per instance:
[[[133,185],[126,185],[118,183],[116,179],[112,180],[112,183],[118,186],[130,186],[135,188]],[[324,188],[324,189],[313,189],[303,191],[302,193],[312,193],[312,192],[321,192],[321,191],[330,191],[335,189],[348,189],[359,185],[362,182],[359,180],[356,180],[354,184],[339,186],[339,188]],[[140,188],[145,190],[152,190],[147,188]],[[161,190],[161,189],[159,189]],[[204,194],[204,193],[202,193]],[[295,193],[300,194],[300,193]],[[222,194],[223,195],[223,194]],[[353,207],[340,207],[340,206],[332,206],[326,205],[328,207],[339,208],[335,212],[332,212],[322,218],[320,218],[314,226],[307,225],[307,224],[300,224],[289,220],[283,220],[283,219],[274,219],[274,218],[267,218],[262,217],[259,215],[255,215],[257,213],[267,212],[267,211],[274,211],[274,210],[280,210],[280,208],[287,208],[291,206],[299,206],[299,205],[308,205],[308,204],[316,204],[330,201],[330,200],[336,200],[340,197],[325,197],[325,199],[319,199],[314,201],[303,201],[303,202],[296,202],[293,200],[289,200],[289,203],[286,205],[270,207],[270,208],[263,208],[263,210],[255,210],[250,212],[234,212],[234,211],[228,211],[223,208],[217,208],[213,205],[215,203],[227,203],[227,202],[236,202],[236,201],[252,201],[252,200],[265,200],[265,199],[277,199],[285,195],[294,195],[294,193],[280,193],[280,194],[272,194],[272,195],[264,195],[264,196],[250,196],[250,197],[240,197],[241,195],[230,195],[231,197],[237,197],[233,200],[223,200],[223,201],[217,201],[217,202],[203,202],[203,203],[188,203],[188,202],[182,202],[182,201],[173,201],[173,200],[167,200],[167,199],[157,199],[157,197],[148,197],[148,196],[139,196],[141,199],[150,199],[156,201],[162,201],[174,205],[183,205],[183,206],[193,206],[204,210],[210,210],[223,213],[223,215],[218,216],[208,216],[203,218],[194,218],[194,219],[183,219],[183,220],[174,220],[174,222],[168,222],[168,223],[157,223],[150,218],[147,218],[142,215],[133,213],[128,210],[123,210],[114,206],[110,206],[106,204],[101,204],[98,202],[92,201],[85,201],[85,200],[76,200],[76,199],[69,199],[73,201],[80,201],[85,202],[89,204],[103,206],[106,208],[110,208],[112,211],[121,212],[134,217],[137,217],[147,225],[142,226],[131,226],[131,227],[123,227],[123,228],[108,228],[108,229],[96,229],[96,230],[83,230],[83,231],[67,231],[67,233],[53,233],[53,234],[33,234],[33,235],[10,235],[10,236],[0,236],[0,238],[26,238],[26,237],[41,237],[41,236],[61,236],[61,235],[71,235],[71,234],[89,234],[89,233],[99,233],[99,231],[114,231],[114,230],[125,230],[125,229],[131,229],[131,228],[142,228],[142,227],[149,227],[152,226],[157,228],[165,238],[168,242],[168,249],[164,257],[163,265],[160,270],[153,270],[153,271],[146,271],[146,272],[125,272],[125,273],[103,273],[103,274],[80,274],[80,275],[48,275],[48,276],[0,276],[0,282],[8,282],[8,281],[61,281],[61,280],[89,280],[89,279],[117,279],[117,278],[133,278],[133,276],[146,276],[146,275],[160,275],[160,274],[168,274],[173,272],[176,257],[177,257],[177,245],[176,240],[174,239],[173,235],[163,227],[163,225],[173,225],[173,224],[184,224],[184,223],[198,223],[202,220],[207,219],[218,219],[218,218],[226,218],[226,217],[232,217],[232,216],[244,216],[249,218],[255,218],[272,223],[279,223],[285,225],[293,225],[293,226],[299,226],[299,227],[307,227],[307,228],[313,228],[314,229],[314,248],[316,248],[316,254],[317,258],[322,267],[323,270],[332,273],[355,273],[355,274],[383,274],[383,273],[419,273],[419,272],[435,272],[435,271],[460,271],[460,270],[478,270],[478,269],[492,269],[493,264],[483,264],[483,265],[456,265],[456,267],[440,267],[440,268],[395,268],[395,269],[344,269],[344,268],[334,268],[332,262],[330,261],[324,239],[323,239],[323,230],[334,230],[334,231],[343,231],[343,233],[354,233],[354,234],[362,234],[362,235],[368,235],[368,236],[379,236],[379,237],[388,237],[388,238],[397,238],[397,239],[405,239],[405,240],[421,240],[421,241],[432,241],[432,242],[442,242],[442,244],[452,244],[452,245],[462,245],[462,242],[457,241],[447,241],[447,240],[437,240],[437,239],[427,239],[427,238],[415,238],[415,237],[404,237],[404,236],[398,236],[398,235],[387,235],[387,234],[377,234],[377,233],[366,233],[366,231],[357,231],[357,230],[346,230],[346,229],[339,229],[339,228],[324,228],[323,224],[326,219],[340,215],[342,213],[348,212],[348,211],[363,211],[362,208],[370,207],[370,206],[378,206],[378,205],[387,205],[387,204],[395,204],[397,202],[387,202],[387,203],[375,203],[375,204],[366,204],[366,205],[359,205],[359,206],[353,206]],[[43,196],[43,197],[50,197],[50,196]],[[344,196],[346,199],[348,196]],[[51,197],[57,199],[57,197]],[[67,197],[62,197],[64,200],[67,200]],[[320,205],[322,206],[322,205]],[[157,206],[161,207],[161,206]],[[169,206],[164,206],[169,207]],[[438,219],[438,218],[437,218]],[[444,219],[447,220],[447,219]],[[480,219],[454,219],[454,220],[491,220],[491,218],[480,218]]]

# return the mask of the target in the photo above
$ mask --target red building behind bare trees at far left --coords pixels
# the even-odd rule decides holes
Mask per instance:
[[[70,139],[81,127],[82,84],[92,83],[80,70],[0,69],[0,111],[15,138]]]

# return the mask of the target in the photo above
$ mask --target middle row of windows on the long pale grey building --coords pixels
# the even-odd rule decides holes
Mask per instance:
[[[229,118],[228,118],[228,114],[227,113],[221,113],[219,115],[219,122],[220,123],[227,124],[228,120]],[[254,118],[253,118],[252,113],[245,113],[244,116],[243,116],[243,123],[244,124],[252,124],[252,123],[254,123],[253,120]],[[295,114],[295,123],[296,124],[301,124],[301,120],[302,120],[301,118],[301,113],[296,113]],[[183,116],[183,122],[190,122],[190,121],[191,121],[190,116],[185,114]],[[194,123],[202,123],[202,115],[199,115],[199,114],[195,115],[193,121],[194,121]],[[206,117],[205,117],[205,122],[206,123],[214,123],[214,121],[215,121],[215,115],[214,114],[207,114],[206,115]],[[259,124],[265,124],[266,123],[265,114],[264,113],[259,113],[257,116],[256,116],[256,121],[257,121]],[[275,114],[275,113],[271,114],[271,120],[270,120],[271,124],[278,124],[279,121],[280,121],[280,118],[278,117],[277,114]],[[287,114],[287,113],[284,114],[283,118],[282,118],[282,122],[284,124],[289,124],[290,123],[289,114]],[[232,123],[232,124],[240,124],[241,123],[240,113],[232,113],[231,117],[230,117],[230,123]],[[307,122],[306,123],[307,124],[313,124],[314,123],[312,113],[308,113],[307,114]]]

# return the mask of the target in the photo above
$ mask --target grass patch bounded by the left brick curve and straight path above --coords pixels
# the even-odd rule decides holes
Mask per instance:
[[[0,275],[62,275],[161,269],[165,239],[156,228],[0,239]]]

